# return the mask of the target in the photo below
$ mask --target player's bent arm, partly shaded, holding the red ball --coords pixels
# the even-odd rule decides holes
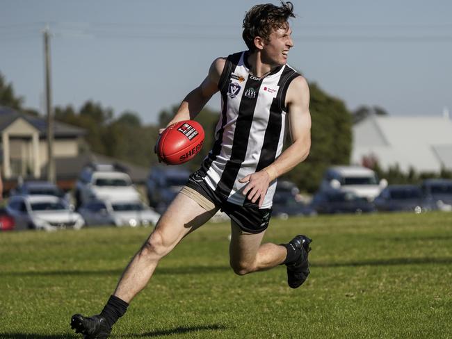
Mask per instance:
[[[179,106],[177,113],[167,126],[182,120],[193,119],[196,117],[197,113],[200,113],[212,95],[218,92],[218,83],[223,68],[225,68],[225,62],[226,58],[217,58],[216,60],[213,60],[213,63],[209,68],[209,74],[204,78],[201,85],[187,94]]]

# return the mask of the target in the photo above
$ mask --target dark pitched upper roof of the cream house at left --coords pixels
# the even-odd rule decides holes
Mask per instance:
[[[13,124],[17,119],[22,118],[35,129],[39,131],[39,135],[45,137],[47,135],[47,122],[42,117],[35,117],[33,115],[27,115],[19,113],[11,108],[0,106],[0,132],[6,129],[10,124]],[[55,121],[54,123],[54,135],[56,138],[60,137],[78,137],[86,135],[84,129],[79,127],[70,126],[63,122]]]

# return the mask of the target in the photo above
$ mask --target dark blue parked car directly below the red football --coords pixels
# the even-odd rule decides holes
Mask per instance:
[[[187,183],[190,173],[188,169],[180,167],[153,167],[146,181],[150,206],[163,213]]]

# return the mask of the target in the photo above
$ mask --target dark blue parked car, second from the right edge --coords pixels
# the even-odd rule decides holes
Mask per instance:
[[[377,210],[410,211],[422,213],[426,210],[422,190],[417,185],[389,185],[373,201]]]

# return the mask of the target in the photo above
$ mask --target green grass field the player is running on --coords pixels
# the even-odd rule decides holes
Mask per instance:
[[[0,338],[79,338],[150,229],[0,233]],[[236,276],[228,224],[207,224],[161,261],[112,338],[452,338],[452,213],[272,220],[305,233],[311,275]]]

